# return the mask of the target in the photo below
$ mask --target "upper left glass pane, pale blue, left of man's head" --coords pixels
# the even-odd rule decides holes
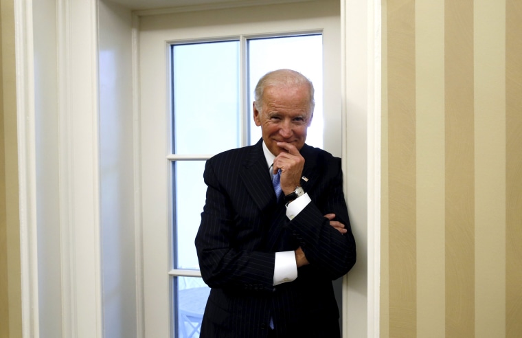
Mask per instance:
[[[239,146],[239,42],[172,46],[173,149],[214,154]]]

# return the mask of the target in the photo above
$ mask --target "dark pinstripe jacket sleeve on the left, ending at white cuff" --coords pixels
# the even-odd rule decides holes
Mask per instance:
[[[212,161],[207,161],[203,177],[207,199],[196,235],[203,280],[213,288],[272,290],[275,253],[259,251],[256,239],[238,236],[230,192],[218,179]]]

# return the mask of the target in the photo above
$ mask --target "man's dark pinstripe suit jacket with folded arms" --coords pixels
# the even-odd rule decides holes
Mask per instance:
[[[277,203],[262,140],[207,161],[207,200],[196,236],[203,280],[212,288],[201,337],[339,337],[332,280],[356,258],[342,191],[341,160],[305,145],[302,187],[312,202],[293,221]],[[334,229],[334,213],[348,234]],[[302,247],[309,265],[293,282],[273,286],[276,251]]]

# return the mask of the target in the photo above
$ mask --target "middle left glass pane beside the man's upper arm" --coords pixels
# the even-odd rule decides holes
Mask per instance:
[[[201,222],[207,186],[203,182],[205,161],[175,161],[174,248],[175,269],[199,269],[194,239]]]

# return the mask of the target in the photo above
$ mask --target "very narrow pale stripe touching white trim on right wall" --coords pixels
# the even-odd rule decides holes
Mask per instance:
[[[388,53],[387,3],[382,4],[382,93],[381,93],[381,316],[379,337],[389,337],[389,189],[388,189]]]

